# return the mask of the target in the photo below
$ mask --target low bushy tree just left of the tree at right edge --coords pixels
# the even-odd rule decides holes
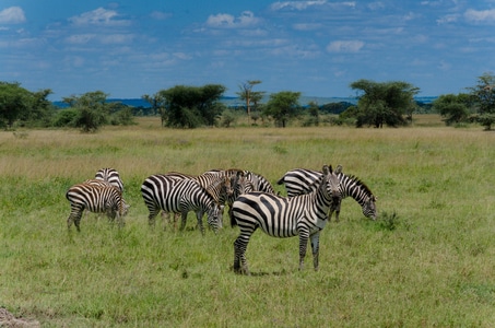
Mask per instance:
[[[459,124],[468,119],[471,99],[471,95],[462,93],[440,95],[433,102],[433,109],[445,117],[447,126]]]

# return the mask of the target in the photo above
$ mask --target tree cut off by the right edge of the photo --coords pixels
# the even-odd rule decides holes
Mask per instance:
[[[491,130],[495,122],[495,75],[484,73],[478,78],[478,84],[468,87],[468,90],[471,91],[475,101],[478,122],[484,126],[486,130]]]

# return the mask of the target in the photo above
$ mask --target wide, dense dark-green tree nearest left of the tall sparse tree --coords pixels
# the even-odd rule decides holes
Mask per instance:
[[[221,84],[204,86],[176,85],[162,90],[158,96],[164,99],[165,124],[174,128],[197,128],[214,126],[225,106],[220,97],[225,92]]]

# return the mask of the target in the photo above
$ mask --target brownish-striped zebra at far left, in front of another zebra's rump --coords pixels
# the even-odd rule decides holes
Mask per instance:
[[[71,212],[67,219],[70,229],[72,222],[80,232],[81,216],[84,210],[95,213],[106,213],[114,221],[117,216],[119,226],[123,226],[123,216],[129,206],[123,201],[122,192],[113,186],[97,186],[93,184],[80,184],[69,188],[66,198],[71,206]]]

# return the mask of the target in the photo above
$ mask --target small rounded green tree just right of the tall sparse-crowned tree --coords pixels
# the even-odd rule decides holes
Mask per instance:
[[[291,91],[271,94],[264,112],[278,126],[285,128],[287,121],[300,113],[299,96],[300,92]]]

